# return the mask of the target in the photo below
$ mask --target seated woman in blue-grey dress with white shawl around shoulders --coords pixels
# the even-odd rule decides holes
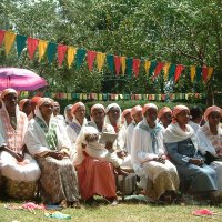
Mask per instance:
[[[205,193],[208,198],[210,192],[218,190],[216,174],[212,168],[204,164],[195,133],[188,124],[189,119],[189,108],[176,105],[173,109],[173,122],[164,132],[164,143],[181,181],[190,182],[190,193],[202,196]]]

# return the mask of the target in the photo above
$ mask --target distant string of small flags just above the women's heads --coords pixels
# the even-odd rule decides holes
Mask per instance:
[[[36,92],[34,95],[48,97],[54,100],[75,101],[119,101],[119,100],[144,100],[144,101],[174,101],[203,99],[203,93],[168,93],[168,94],[115,94],[115,93],[65,93],[65,92]],[[28,98],[29,92],[20,92],[21,98]]]

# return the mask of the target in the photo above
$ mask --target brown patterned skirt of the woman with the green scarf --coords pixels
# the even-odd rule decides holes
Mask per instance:
[[[77,172],[70,159],[37,159],[40,169],[40,192],[44,202],[79,201]]]

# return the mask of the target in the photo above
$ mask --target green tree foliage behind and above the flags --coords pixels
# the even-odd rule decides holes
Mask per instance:
[[[2,0],[0,27],[17,33],[64,43],[88,50],[155,61],[186,64],[174,92],[208,92],[221,89],[222,3],[220,0]],[[75,92],[159,93],[169,82],[163,74],[157,81],[145,75],[117,78],[107,65],[89,72],[87,62],[80,70],[61,68],[54,59],[29,61],[24,50],[20,59],[13,50],[1,65],[34,69],[50,83],[50,90]],[[143,63],[142,63],[143,64]],[[213,65],[208,85],[190,81],[191,64]]]

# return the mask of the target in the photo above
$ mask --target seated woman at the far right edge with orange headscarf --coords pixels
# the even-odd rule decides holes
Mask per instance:
[[[218,191],[215,196],[222,198],[222,129],[220,121],[222,110],[219,107],[209,107],[204,112],[206,123],[196,133],[200,151],[205,155],[206,163],[218,175]]]

